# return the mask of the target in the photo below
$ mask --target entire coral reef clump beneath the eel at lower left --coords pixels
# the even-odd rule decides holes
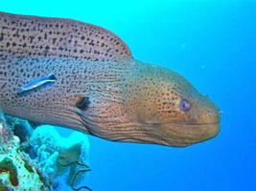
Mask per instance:
[[[0,191],[91,190],[81,184],[90,171],[84,134],[62,138],[53,126],[34,130],[26,120],[7,117],[0,121],[0,143]]]

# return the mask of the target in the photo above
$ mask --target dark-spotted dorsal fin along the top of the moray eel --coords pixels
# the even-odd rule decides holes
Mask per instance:
[[[127,45],[114,33],[76,20],[0,12],[0,26],[0,47],[6,53],[88,61],[131,58]]]

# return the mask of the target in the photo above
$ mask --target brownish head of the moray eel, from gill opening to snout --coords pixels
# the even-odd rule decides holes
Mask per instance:
[[[98,102],[103,103],[97,106],[102,112],[83,117],[87,124],[95,124],[87,128],[89,132],[115,141],[176,147],[218,134],[219,110],[183,76],[154,65],[136,66],[124,82],[121,96],[112,102],[102,96]]]

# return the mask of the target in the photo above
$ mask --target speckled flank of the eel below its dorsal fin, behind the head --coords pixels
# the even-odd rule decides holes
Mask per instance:
[[[109,115],[107,112],[120,98],[126,84],[127,66],[80,58],[0,55],[0,107],[13,116],[40,122],[54,121],[52,124],[69,127],[80,126],[85,131],[77,115],[77,103],[88,96],[93,100],[90,113],[97,117]],[[24,95],[18,94],[24,84],[51,73],[57,77],[54,84]]]

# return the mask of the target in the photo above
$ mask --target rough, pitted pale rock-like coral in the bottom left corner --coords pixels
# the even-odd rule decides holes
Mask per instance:
[[[24,160],[19,150],[19,138],[12,135],[4,122],[0,123],[0,129],[0,137],[4,139],[0,149],[0,190],[48,190],[35,166]]]

